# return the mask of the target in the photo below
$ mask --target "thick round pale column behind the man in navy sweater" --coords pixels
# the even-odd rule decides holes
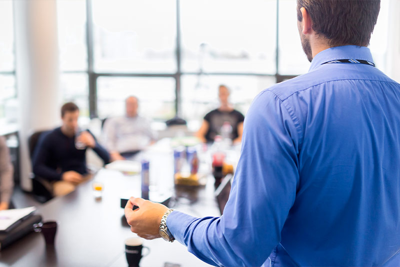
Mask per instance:
[[[14,1],[21,187],[31,190],[28,136],[59,121],[56,1]]]

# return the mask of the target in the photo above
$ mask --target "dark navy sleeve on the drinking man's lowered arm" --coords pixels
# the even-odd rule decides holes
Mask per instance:
[[[51,157],[51,137],[44,134],[39,137],[32,159],[33,173],[46,180],[61,180],[62,173],[47,166],[47,162]]]

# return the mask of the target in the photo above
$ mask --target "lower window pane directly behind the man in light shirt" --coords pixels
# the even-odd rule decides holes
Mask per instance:
[[[152,119],[170,119],[175,115],[173,78],[99,77],[97,110],[100,118],[124,114],[125,99],[139,99],[139,114]]]

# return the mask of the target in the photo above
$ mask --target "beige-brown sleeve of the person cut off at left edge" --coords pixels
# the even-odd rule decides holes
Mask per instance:
[[[13,167],[9,157],[9,149],[5,139],[0,136],[0,202],[9,203],[13,185]]]

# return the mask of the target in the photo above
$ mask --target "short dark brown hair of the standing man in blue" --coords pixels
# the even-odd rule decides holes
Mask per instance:
[[[312,21],[316,34],[328,39],[330,47],[343,45],[367,46],[376,24],[380,0],[297,0]]]

